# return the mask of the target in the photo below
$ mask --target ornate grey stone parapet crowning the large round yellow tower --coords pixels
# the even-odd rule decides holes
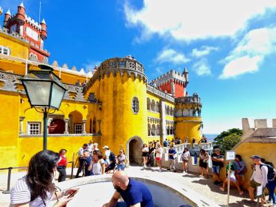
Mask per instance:
[[[121,77],[123,77],[124,74],[128,75],[128,77],[133,75],[135,79],[141,79],[144,83],[148,81],[148,78],[144,74],[144,66],[139,63],[139,61],[136,59],[116,57],[107,59],[101,63],[88,82],[86,91],[89,90],[95,81],[103,79],[105,76],[110,77],[110,75],[113,75],[115,77],[117,73],[119,73]]]

